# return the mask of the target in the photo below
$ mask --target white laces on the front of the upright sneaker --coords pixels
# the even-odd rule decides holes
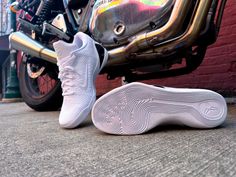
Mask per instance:
[[[62,95],[74,95],[76,93],[75,79],[80,77],[77,72],[75,72],[73,67],[66,66],[61,69],[58,78],[61,80]]]

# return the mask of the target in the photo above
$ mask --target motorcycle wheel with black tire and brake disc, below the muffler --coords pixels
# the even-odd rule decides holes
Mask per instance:
[[[57,75],[55,64],[37,58],[27,60],[23,56],[19,67],[19,84],[25,103],[36,111],[58,110],[63,98]]]

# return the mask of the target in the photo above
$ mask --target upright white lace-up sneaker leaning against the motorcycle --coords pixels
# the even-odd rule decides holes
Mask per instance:
[[[100,64],[95,42],[82,32],[75,35],[73,43],[58,41],[53,47],[58,56],[58,77],[63,90],[59,124],[63,128],[75,128],[92,109],[96,100],[95,79],[105,65],[108,54],[102,48],[104,55]]]

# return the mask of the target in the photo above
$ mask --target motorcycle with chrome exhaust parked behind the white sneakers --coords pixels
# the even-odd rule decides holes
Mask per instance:
[[[100,74],[127,82],[174,77],[194,71],[219,34],[227,0],[21,0],[18,31],[10,37],[18,56],[26,104],[56,110],[62,96],[57,40],[71,42],[82,31],[108,51]],[[98,50],[99,51],[99,50]],[[101,53],[100,53],[101,54]],[[101,54],[102,55],[102,54]]]

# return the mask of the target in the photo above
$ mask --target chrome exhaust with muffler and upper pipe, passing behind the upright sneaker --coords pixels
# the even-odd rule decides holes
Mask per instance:
[[[109,62],[122,63],[123,59],[126,59],[126,57],[132,52],[147,49],[153,43],[158,43],[170,36],[175,35],[181,29],[180,27],[182,26],[187,15],[189,5],[190,1],[176,0],[173,12],[166,25],[155,31],[136,36],[136,39],[127,46],[108,51],[108,64]],[[24,53],[37,58],[42,58],[51,63],[56,63],[57,56],[53,50],[46,48],[22,32],[12,33],[9,40],[11,47],[16,50],[23,51]]]

